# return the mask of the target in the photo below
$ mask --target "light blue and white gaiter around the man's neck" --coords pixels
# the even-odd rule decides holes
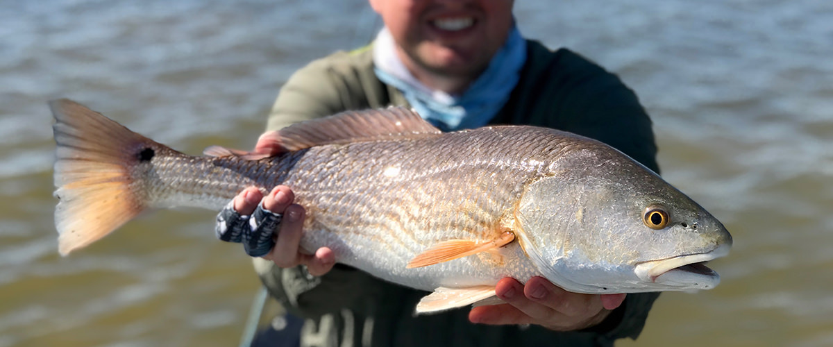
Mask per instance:
[[[416,112],[441,131],[485,126],[509,100],[526,62],[526,40],[512,27],[506,42],[491,58],[489,67],[462,95],[431,90],[407,70],[396,52],[387,28],[373,42],[373,64],[382,82],[396,87]]]

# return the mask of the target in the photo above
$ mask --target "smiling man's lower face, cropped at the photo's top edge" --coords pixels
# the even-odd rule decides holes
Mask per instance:
[[[513,0],[370,2],[400,53],[413,64],[442,75],[474,77],[482,72],[512,26]]]

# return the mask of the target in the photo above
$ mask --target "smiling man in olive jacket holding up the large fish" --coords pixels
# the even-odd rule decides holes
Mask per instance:
[[[511,0],[370,2],[385,29],[369,47],[296,72],[277,97],[268,130],[404,105],[444,131],[529,124],[575,132],[658,170],[651,121],[633,92],[575,53],[523,39]],[[255,151],[277,151],[275,133],[264,134]],[[292,191],[278,186],[265,197],[249,188],[232,205],[244,216],[258,204],[283,216],[277,244],[256,268],[271,294],[306,319],[297,333],[301,345],[612,345],[636,338],[656,300],[651,293],[582,295],[540,277],[526,284],[506,278],[496,295],[507,304],[414,316],[425,292],[334,265],[327,247],[302,253],[304,209],[292,201]]]

